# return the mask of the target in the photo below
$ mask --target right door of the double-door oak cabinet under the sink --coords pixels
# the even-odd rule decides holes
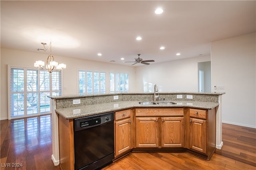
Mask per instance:
[[[161,146],[183,147],[183,117],[162,117]]]

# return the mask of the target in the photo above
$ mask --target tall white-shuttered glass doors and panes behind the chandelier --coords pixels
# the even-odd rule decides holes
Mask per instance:
[[[61,94],[61,72],[10,67],[9,118],[50,112],[48,95]]]

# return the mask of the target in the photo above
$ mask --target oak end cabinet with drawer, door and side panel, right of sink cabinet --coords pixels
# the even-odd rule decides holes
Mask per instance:
[[[189,109],[190,149],[209,159],[216,149],[216,109]]]

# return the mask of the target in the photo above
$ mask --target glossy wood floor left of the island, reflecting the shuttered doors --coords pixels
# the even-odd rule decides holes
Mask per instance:
[[[51,116],[1,120],[1,170],[60,170],[52,162]]]

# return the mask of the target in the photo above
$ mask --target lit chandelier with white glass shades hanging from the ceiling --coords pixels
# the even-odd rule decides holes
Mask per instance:
[[[52,56],[52,41],[50,42],[49,47],[47,49],[45,48],[46,43],[41,43],[41,44],[44,45],[44,51],[50,48],[50,55],[47,57],[47,60],[46,60],[46,68],[43,68],[44,61],[41,61],[41,60],[36,61],[34,63],[34,67],[41,68],[48,72],[52,72],[54,68],[56,68],[57,70],[62,70],[66,68],[66,64],[58,64],[58,62],[54,61],[54,58]]]

